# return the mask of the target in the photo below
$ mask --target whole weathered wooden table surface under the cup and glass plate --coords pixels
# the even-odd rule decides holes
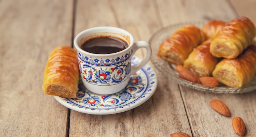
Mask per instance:
[[[211,94],[164,79],[155,94],[123,113],[90,115],[70,110],[41,89],[49,53],[72,46],[80,31],[97,26],[126,29],[135,41],[179,22],[230,21],[256,24],[256,0],[0,0],[1,137],[237,137],[231,121],[243,118],[246,137],[256,136],[256,91]],[[144,51],[135,53],[142,58]],[[150,64],[150,63],[149,63]],[[209,102],[220,99],[231,117]]]

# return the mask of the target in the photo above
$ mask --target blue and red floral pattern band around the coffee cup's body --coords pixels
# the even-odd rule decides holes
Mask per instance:
[[[131,64],[128,62],[131,55],[132,50],[124,56],[112,60],[108,58],[98,60],[97,58],[83,57],[78,52],[81,77],[91,84],[110,85],[120,83],[126,80],[131,71]]]

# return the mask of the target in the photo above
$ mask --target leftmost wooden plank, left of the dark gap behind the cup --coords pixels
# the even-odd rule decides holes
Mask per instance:
[[[49,53],[72,44],[72,4],[0,1],[0,136],[65,136],[68,109],[41,86]]]

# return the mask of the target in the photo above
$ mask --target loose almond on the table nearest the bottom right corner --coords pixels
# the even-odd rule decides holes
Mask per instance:
[[[232,126],[237,135],[245,135],[245,123],[241,117],[234,117],[232,119]]]

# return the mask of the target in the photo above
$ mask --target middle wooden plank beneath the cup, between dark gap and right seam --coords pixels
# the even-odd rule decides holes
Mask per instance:
[[[77,5],[75,33],[90,27],[114,26],[132,33],[135,41],[148,41],[151,35],[162,27],[157,20],[154,1],[78,0]],[[94,6],[81,9],[80,5]],[[104,7],[103,11],[98,10],[101,7]],[[138,51],[136,56],[143,57],[143,54]],[[137,108],[113,115],[88,115],[71,110],[70,137],[162,137],[179,131],[191,135],[177,84],[163,79],[161,73],[157,75],[159,84],[155,94]]]

